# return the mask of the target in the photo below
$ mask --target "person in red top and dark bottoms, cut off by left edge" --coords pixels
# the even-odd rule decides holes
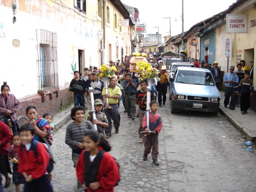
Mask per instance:
[[[11,183],[11,178],[8,176],[8,172],[12,173],[12,171],[7,156],[11,138],[12,134],[10,128],[4,122],[0,121],[0,192],[3,191],[1,173],[6,180],[5,188],[8,188]]]

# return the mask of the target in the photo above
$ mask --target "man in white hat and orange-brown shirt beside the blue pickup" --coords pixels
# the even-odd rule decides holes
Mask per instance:
[[[163,95],[163,105],[165,105],[166,101],[166,93],[167,93],[167,82],[169,80],[169,76],[166,73],[166,66],[163,65],[161,67],[161,72],[158,74],[160,81],[156,85],[156,90],[158,92],[158,105],[162,107],[162,95]]]

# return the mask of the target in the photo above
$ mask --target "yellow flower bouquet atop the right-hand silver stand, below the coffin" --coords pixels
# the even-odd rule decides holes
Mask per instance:
[[[140,80],[147,79],[147,78],[158,78],[157,74],[159,71],[151,66],[150,63],[145,61],[137,62],[136,63],[136,70],[140,72]]]

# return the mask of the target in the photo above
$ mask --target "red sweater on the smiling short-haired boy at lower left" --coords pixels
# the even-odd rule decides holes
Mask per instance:
[[[38,179],[45,174],[50,156],[47,153],[44,144],[39,142],[37,144],[36,158],[33,152],[33,147],[35,147],[33,141],[34,140],[31,141],[31,147],[28,151],[26,151],[25,146],[22,151],[21,148],[19,149],[20,162],[18,171],[20,173],[25,172],[27,175],[32,175],[33,179]]]

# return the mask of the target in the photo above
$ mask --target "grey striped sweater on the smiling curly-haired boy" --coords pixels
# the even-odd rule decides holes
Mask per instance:
[[[72,149],[79,149],[79,143],[84,142],[84,131],[94,129],[90,121],[83,120],[82,124],[75,121],[67,126],[65,143]]]

